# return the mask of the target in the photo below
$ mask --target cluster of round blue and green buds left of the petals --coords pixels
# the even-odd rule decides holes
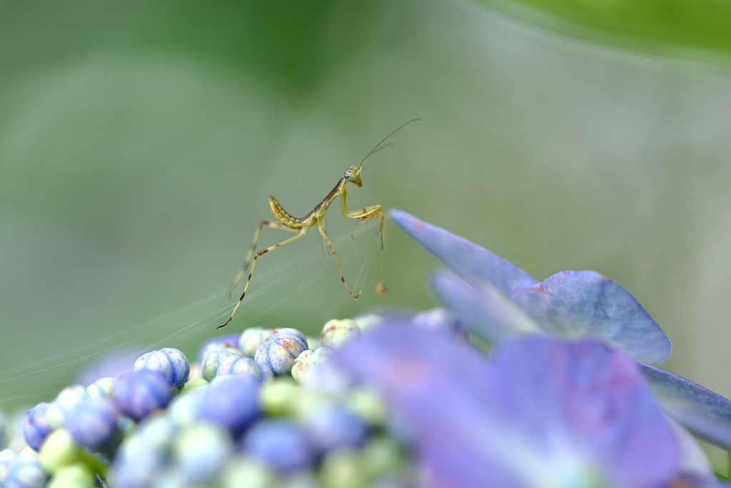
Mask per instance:
[[[32,450],[0,451],[0,488],[393,486],[407,460],[379,398],[314,374],[360,333],[352,320],[309,340],[249,329],[206,342],[193,365],[176,349],[145,353],[118,379],[31,409]]]

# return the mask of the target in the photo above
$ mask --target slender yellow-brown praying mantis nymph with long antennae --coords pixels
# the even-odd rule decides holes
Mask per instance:
[[[417,121],[421,119],[412,119],[406,124],[410,124],[413,121]],[[360,161],[360,165],[351,166],[350,168],[345,170],[345,174],[343,177],[338,181],[338,184],[335,185],[335,187],[330,190],[330,193],[327,194],[325,198],[322,199],[320,203],[315,206],[312,211],[307,214],[305,217],[292,217],[289,213],[287,213],[286,210],[284,210],[281,206],[281,204],[276,200],[276,198],[270,196],[269,197],[269,209],[272,211],[272,214],[274,215],[274,218],[276,221],[273,220],[262,220],[259,222],[259,225],[257,226],[256,232],[254,232],[254,241],[251,243],[251,249],[249,249],[249,253],[246,255],[246,259],[243,261],[243,266],[241,266],[240,271],[238,274],[236,274],[236,277],[234,278],[233,282],[231,283],[231,286],[229,287],[228,294],[230,295],[233,290],[238,286],[239,282],[241,281],[241,278],[243,278],[243,274],[246,273],[246,270],[249,269],[249,277],[246,279],[246,283],[243,285],[243,293],[241,293],[240,298],[238,299],[238,303],[235,307],[233,307],[233,311],[231,312],[230,317],[226,322],[224,322],[222,325],[216,327],[216,329],[221,329],[221,327],[225,327],[228,325],[228,323],[233,318],[234,314],[236,313],[236,310],[240,306],[241,302],[243,301],[243,297],[246,296],[246,290],[249,289],[249,283],[251,282],[251,274],[254,273],[254,266],[257,264],[257,259],[260,258],[260,256],[266,254],[267,252],[271,251],[272,249],[276,249],[279,246],[283,246],[284,244],[287,244],[289,242],[295,241],[296,239],[300,239],[300,237],[304,236],[307,232],[308,228],[311,228],[313,225],[317,225],[317,230],[319,230],[320,236],[322,236],[322,240],[325,241],[325,244],[327,244],[327,247],[330,248],[330,252],[333,253],[333,258],[335,258],[335,264],[338,266],[338,273],[340,273],[340,280],[343,282],[343,285],[345,286],[345,289],[348,290],[348,293],[350,293],[350,296],[352,296],[354,299],[357,299],[358,296],[360,296],[360,293],[358,295],[355,295],[350,288],[348,287],[348,284],[345,282],[345,277],[343,276],[343,270],[340,267],[340,263],[338,263],[338,255],[335,253],[335,247],[333,247],[333,243],[330,242],[330,239],[327,239],[327,234],[325,233],[325,212],[330,207],[330,203],[333,203],[333,200],[336,199],[338,195],[340,195],[340,201],[343,205],[343,215],[344,217],[348,219],[358,219],[359,222],[355,227],[362,224],[368,219],[372,219],[374,217],[381,217],[381,227],[379,228],[378,233],[381,235],[381,248],[383,249],[384,243],[383,243],[383,225],[385,223],[385,215],[381,211],[380,205],[371,205],[367,206],[365,209],[360,210],[354,210],[354,211],[348,211],[347,201],[346,201],[346,185],[349,183],[355,184],[357,187],[363,186],[363,181],[360,181],[360,168],[363,168],[363,163],[366,162],[366,159],[368,159],[368,156],[373,154],[375,151],[380,149],[382,147],[382,144],[385,143],[385,141],[390,138],[392,135],[394,135],[396,132],[398,132],[400,129],[402,129],[406,124],[401,125],[401,127],[398,127],[398,129],[395,129],[393,132],[391,132],[389,135],[387,135],[385,138],[381,140],[374,149],[371,149],[368,154],[366,154],[366,157],[363,158],[363,160]],[[257,243],[259,242],[259,236],[262,233],[262,228],[264,226],[275,228],[275,229],[281,229],[281,230],[289,230],[290,232],[296,232],[297,235],[290,237],[289,239],[284,239],[284,241],[281,241],[279,244],[274,244],[273,246],[267,247],[266,249],[262,249],[256,254],[254,254],[254,251],[257,249]],[[355,231],[355,228],[353,228]],[[352,233],[351,233],[352,236]],[[251,268],[249,268],[249,265],[251,265]]]

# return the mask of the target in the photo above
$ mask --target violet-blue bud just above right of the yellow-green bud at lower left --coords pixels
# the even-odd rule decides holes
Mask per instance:
[[[115,439],[118,416],[112,400],[90,398],[74,409],[66,427],[77,443],[99,449],[109,446]]]

